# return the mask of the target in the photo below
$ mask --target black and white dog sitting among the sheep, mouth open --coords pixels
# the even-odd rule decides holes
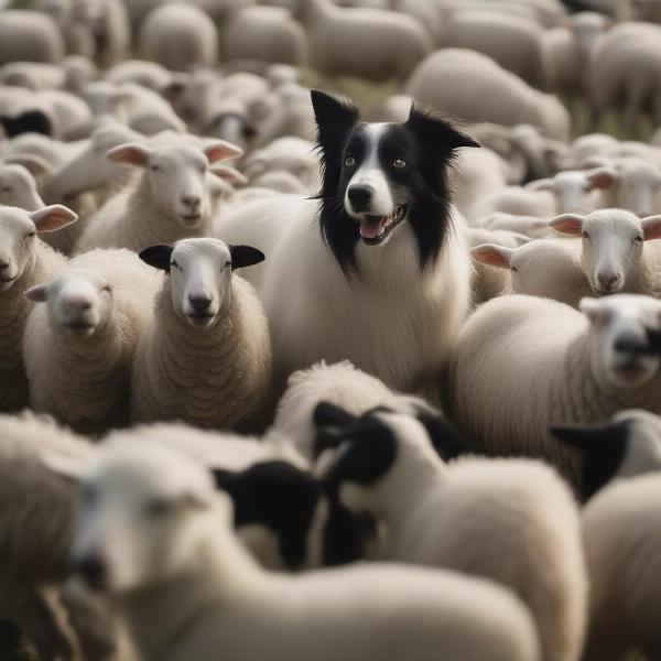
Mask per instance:
[[[448,173],[479,147],[413,106],[403,123],[364,123],[357,108],[312,93],[323,184],[237,207],[217,235],[259,247],[248,269],[264,304],[279,384],[325,359],[351,360],[413,390],[445,360],[469,300],[470,263]]]

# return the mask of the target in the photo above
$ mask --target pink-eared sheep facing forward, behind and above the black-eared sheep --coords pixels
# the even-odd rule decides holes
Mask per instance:
[[[76,250],[141,250],[156,241],[208,234],[214,210],[209,193],[214,175],[207,173],[208,164],[240,153],[223,141],[204,149],[188,143],[153,149],[127,143],[111,149],[111,162],[140,167],[143,173],[89,218]]]

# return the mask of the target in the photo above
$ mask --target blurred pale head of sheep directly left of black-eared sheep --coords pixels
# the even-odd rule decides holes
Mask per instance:
[[[26,295],[31,301],[45,302],[54,327],[69,336],[98,335],[112,317],[112,288],[97,271],[72,270],[32,288]]]

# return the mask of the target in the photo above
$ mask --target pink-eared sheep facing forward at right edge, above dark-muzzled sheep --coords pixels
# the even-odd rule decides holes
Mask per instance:
[[[563,214],[550,221],[561,235],[582,238],[581,263],[596,296],[618,292],[661,296],[657,272],[661,216],[639,219],[624,209]]]

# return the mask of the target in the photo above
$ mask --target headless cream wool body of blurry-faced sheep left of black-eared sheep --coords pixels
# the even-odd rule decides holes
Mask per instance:
[[[94,250],[67,269],[100,273],[112,288],[108,325],[89,338],[65,335],[47,305],[36,305],[25,327],[23,358],[35,411],[84,433],[129,421],[133,354],[152,317],[162,275],[129,250]]]

